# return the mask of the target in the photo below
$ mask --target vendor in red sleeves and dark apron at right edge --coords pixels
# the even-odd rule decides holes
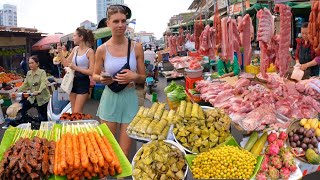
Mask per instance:
[[[304,77],[308,78],[310,76],[319,75],[319,65],[311,65],[311,61],[315,56],[320,56],[320,49],[314,49],[308,38],[308,23],[304,23],[301,27],[301,36],[298,38],[297,48],[295,53],[296,64],[301,64],[301,69],[305,71]]]

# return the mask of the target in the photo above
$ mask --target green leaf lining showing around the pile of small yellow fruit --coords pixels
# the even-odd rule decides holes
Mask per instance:
[[[220,146],[223,146],[223,145],[230,145],[230,146],[240,147],[239,144],[237,143],[237,141],[232,136],[227,138],[227,140],[225,142],[223,142],[222,144],[219,144],[216,147],[220,147]],[[187,163],[188,163],[188,166],[190,167],[191,173],[192,173],[192,169],[191,169],[192,168],[192,161],[196,156],[197,155],[195,155],[195,154],[187,154],[185,156],[186,160],[187,160]],[[263,158],[264,158],[264,156],[257,156],[257,164],[256,164],[256,167],[255,167],[255,169],[253,171],[253,174],[251,175],[250,179],[255,179],[255,176],[257,175],[257,173],[260,170]]]

